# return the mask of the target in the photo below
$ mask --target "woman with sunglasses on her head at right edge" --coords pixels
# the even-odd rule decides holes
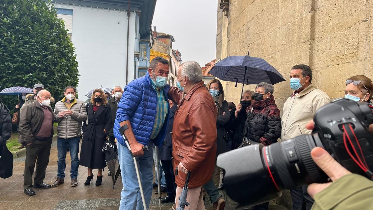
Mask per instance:
[[[357,102],[367,102],[371,108],[373,97],[373,83],[364,75],[355,75],[346,80],[345,98]]]

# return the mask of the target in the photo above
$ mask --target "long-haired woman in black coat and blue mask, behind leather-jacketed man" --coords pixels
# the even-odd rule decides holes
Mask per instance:
[[[219,80],[211,80],[207,83],[206,87],[209,89],[211,96],[213,97],[217,107],[217,140],[216,140],[216,157],[224,152],[229,151],[229,137],[225,130],[225,124],[228,123],[231,117],[231,112],[228,109],[228,101],[224,100],[224,90],[222,83]],[[212,179],[216,187],[219,186],[220,182],[220,167],[214,167]]]

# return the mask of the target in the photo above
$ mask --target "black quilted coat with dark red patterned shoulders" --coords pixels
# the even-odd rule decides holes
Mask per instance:
[[[281,136],[281,117],[273,96],[255,101],[249,106],[247,115],[248,120],[245,125],[247,138],[266,146],[277,142]]]

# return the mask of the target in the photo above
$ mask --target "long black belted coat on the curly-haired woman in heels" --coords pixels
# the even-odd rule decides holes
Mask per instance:
[[[91,103],[88,103],[85,108],[88,114],[88,124],[86,125],[84,122],[79,165],[103,169],[106,167],[106,161],[102,147],[112,127],[110,106],[101,105],[96,113],[93,113],[93,104]]]

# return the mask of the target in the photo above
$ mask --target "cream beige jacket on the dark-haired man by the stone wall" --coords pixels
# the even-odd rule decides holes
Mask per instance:
[[[330,103],[325,92],[310,84],[300,93],[289,97],[283,105],[281,140],[289,140],[295,136],[310,133],[305,124],[313,120],[313,115],[321,106]]]

